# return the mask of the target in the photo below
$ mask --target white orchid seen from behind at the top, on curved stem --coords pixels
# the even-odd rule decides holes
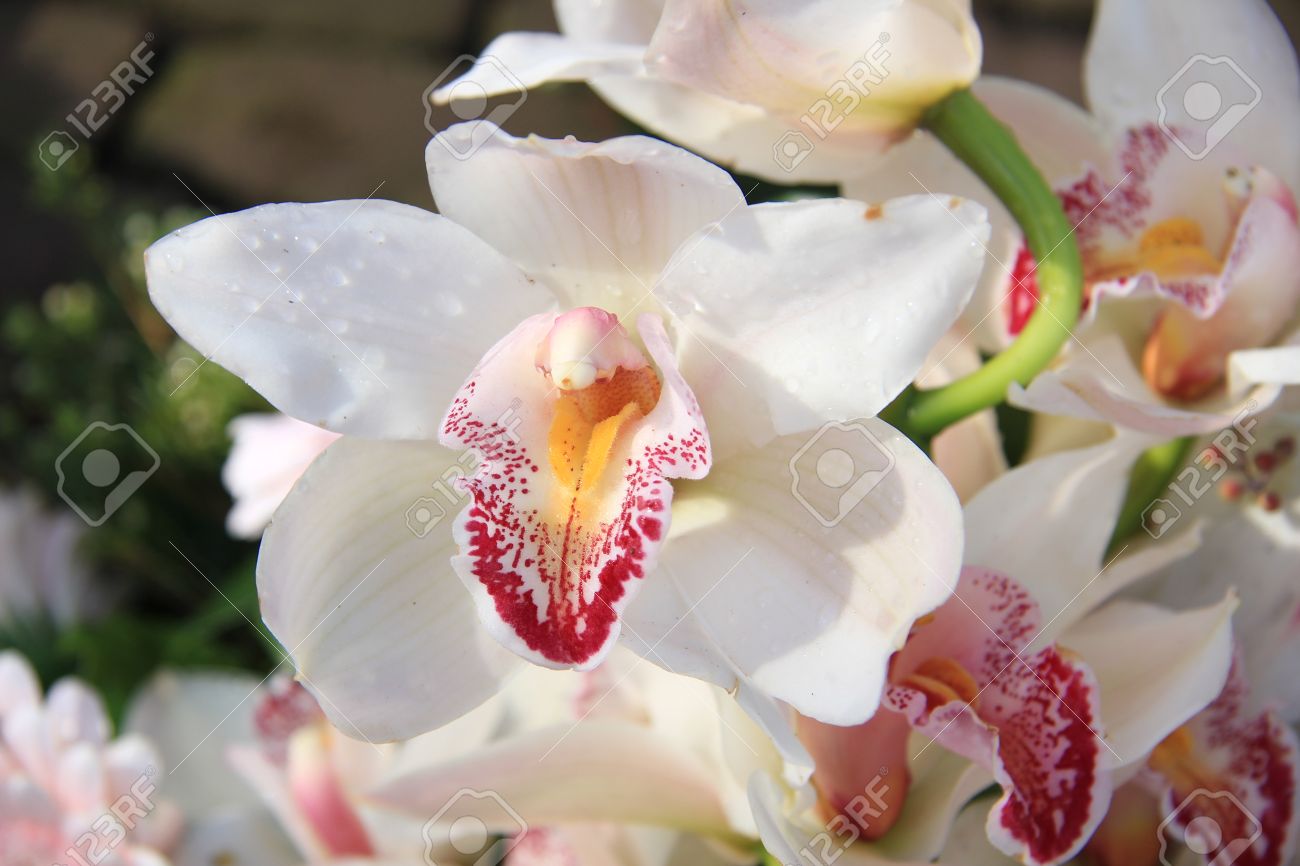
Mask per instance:
[[[563,34],[498,36],[437,101],[586,81],[642,126],[738,172],[837,182],[979,74],[967,0],[556,0]]]

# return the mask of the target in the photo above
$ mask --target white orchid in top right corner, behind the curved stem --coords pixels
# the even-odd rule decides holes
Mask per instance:
[[[1104,0],[1084,72],[1091,114],[1027,85],[976,86],[1057,182],[1087,280],[1078,342],[1013,402],[1162,436],[1221,429],[1300,381],[1295,49],[1262,0]],[[1193,116],[1213,108],[1197,98],[1222,111]],[[846,192],[919,186],[992,200],[920,139]],[[996,261],[967,317],[996,350],[1035,309],[1036,281],[991,209]]]

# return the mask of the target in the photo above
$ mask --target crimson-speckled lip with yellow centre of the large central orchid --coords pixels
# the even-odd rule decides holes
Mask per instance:
[[[572,394],[536,369],[558,324],[534,316],[502,339],[447,415],[442,442],[482,460],[464,480],[472,505],[456,519],[452,564],[503,645],[540,664],[589,668],[668,532],[668,479],[702,477],[711,458],[658,317],[638,326],[662,385],[642,361],[642,376],[620,367]]]

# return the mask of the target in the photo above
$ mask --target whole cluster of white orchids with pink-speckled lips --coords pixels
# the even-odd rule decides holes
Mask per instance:
[[[585,81],[689,150],[469,121],[437,213],[151,247],[157,309],[283,412],[226,482],[294,677],[156,680],[127,724],[187,830],[105,862],[1294,863],[1295,51],[1264,0],[1101,0],[1084,111],[976,81],[968,5],[556,0],[434,98]],[[971,86],[1056,247],[926,131]],[[1069,337],[918,432],[1054,316],[1062,244]],[[140,761],[0,688],[0,850],[44,863]]]

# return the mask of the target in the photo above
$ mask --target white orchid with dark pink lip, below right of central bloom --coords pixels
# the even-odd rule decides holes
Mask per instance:
[[[755,780],[770,850],[783,862],[827,845],[852,863],[963,862],[945,840],[993,781],[1002,793],[982,814],[1005,862],[1083,849],[1112,788],[1216,700],[1231,662],[1234,596],[1183,611],[1114,598],[1200,542],[1188,533],[1105,562],[1147,445],[1050,455],[967,503],[963,580],[894,657],[881,711],[857,728],[801,724],[811,787]]]

